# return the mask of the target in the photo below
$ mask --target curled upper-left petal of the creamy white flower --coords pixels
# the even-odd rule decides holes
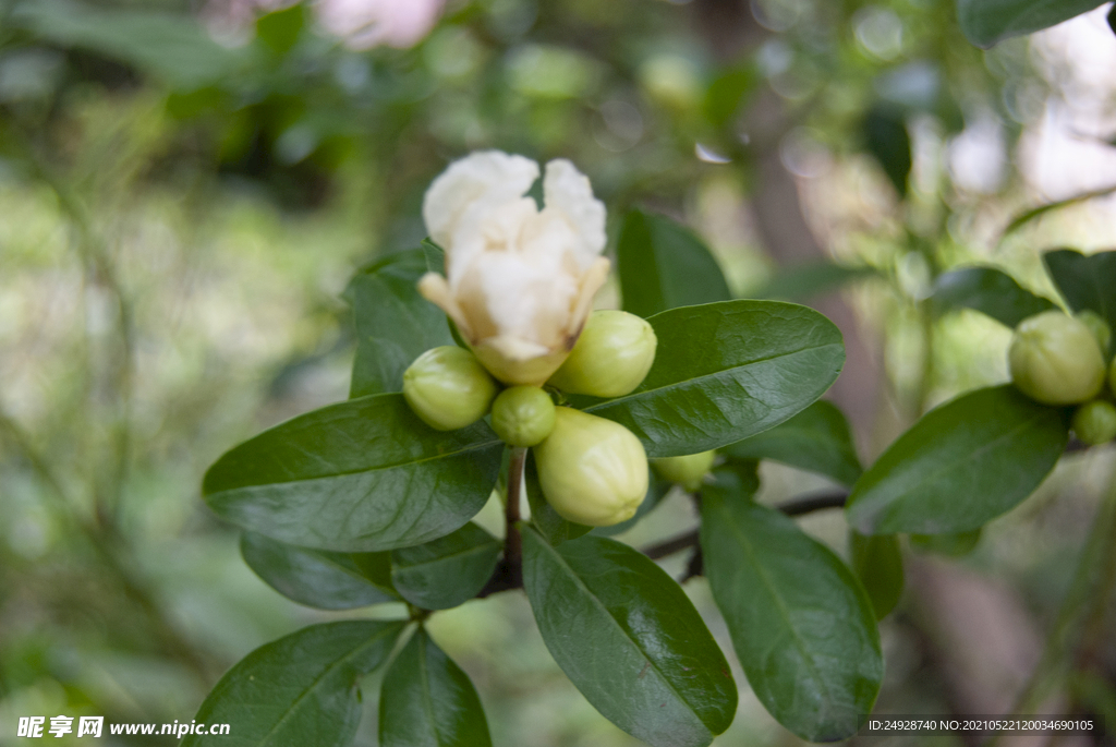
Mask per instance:
[[[434,180],[423,199],[427,233],[446,252],[452,252],[458,224],[471,207],[516,200],[531,189],[538,176],[539,164],[500,151],[481,151],[454,161]]]

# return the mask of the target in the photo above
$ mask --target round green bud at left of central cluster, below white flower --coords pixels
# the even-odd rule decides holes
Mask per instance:
[[[403,373],[403,396],[424,423],[453,431],[484,416],[496,382],[472,353],[443,345],[420,355]]]

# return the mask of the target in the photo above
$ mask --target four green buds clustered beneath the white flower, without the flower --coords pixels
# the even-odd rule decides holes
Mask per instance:
[[[546,389],[502,382],[512,385],[499,391],[497,371],[463,347],[445,346],[411,364],[403,396],[423,422],[442,431],[465,428],[491,412],[492,430],[506,443],[535,448],[542,494],[560,516],[607,526],[631,518],[647,492],[643,444],[618,423],[555,406],[551,392],[628,394],[651,370],[656,345],[644,319],[596,312]]]

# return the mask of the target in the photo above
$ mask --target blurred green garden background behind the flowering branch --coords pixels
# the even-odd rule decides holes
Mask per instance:
[[[425,188],[469,151],[571,159],[610,226],[670,214],[741,296],[828,314],[866,461],[1006,381],[1008,329],[929,297],[974,262],[1055,297],[1041,249],[1116,246],[1105,12],[981,51],[952,0],[0,0],[0,745],[21,715],[189,720],[240,657],[329,616],[252,575],[201,477],[346,398],[341,293],[416,246]],[[1116,729],[1113,538],[1087,540],[1114,467],[1112,447],[1068,457],[983,536],[907,548],[881,712],[1026,702]],[[771,501],[826,485],[763,478]],[[694,521],[675,496],[628,539]],[[838,513],[804,524],[845,552]],[[705,582],[686,591],[731,652]],[[520,594],[431,629],[496,744],[638,744]],[[715,744],[797,744],[738,679]]]

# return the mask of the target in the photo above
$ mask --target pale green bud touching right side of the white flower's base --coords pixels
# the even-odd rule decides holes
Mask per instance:
[[[651,371],[657,345],[655,331],[635,314],[594,312],[549,383],[568,394],[623,396]]]

